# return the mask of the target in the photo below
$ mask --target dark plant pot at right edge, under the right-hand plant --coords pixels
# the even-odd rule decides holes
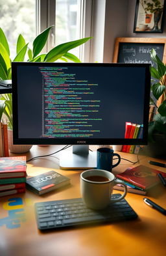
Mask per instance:
[[[152,158],[166,159],[166,136],[164,134],[154,134],[154,143],[149,142],[147,146],[140,149],[140,154],[151,156]]]

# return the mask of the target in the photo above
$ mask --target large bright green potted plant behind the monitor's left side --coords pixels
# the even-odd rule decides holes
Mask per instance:
[[[69,50],[80,46],[87,42],[90,37],[82,38],[79,40],[74,40],[71,42],[66,42],[60,44],[50,50],[48,53],[41,53],[43,47],[47,42],[49,32],[51,27],[48,27],[36,36],[32,43],[32,49],[29,48],[29,43],[25,42],[25,39],[22,35],[18,36],[16,44],[16,57],[13,61],[25,61],[26,54],[28,55],[27,61],[29,62],[54,62],[60,59],[60,61],[74,61],[80,62],[77,56],[69,53]],[[8,41],[6,39],[5,33],[0,28],[0,79],[12,79],[12,70],[11,70],[11,59],[10,59],[10,49],[8,46]],[[9,149],[11,152],[27,152],[31,145],[26,145],[25,149],[20,145],[20,150],[16,149],[16,145],[12,143],[12,94],[2,94],[0,97],[0,121],[1,116],[4,114],[8,119],[8,136],[9,136]],[[18,147],[17,147],[18,148]]]

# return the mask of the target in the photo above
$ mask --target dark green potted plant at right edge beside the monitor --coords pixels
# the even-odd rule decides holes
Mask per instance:
[[[164,64],[156,51],[152,49],[150,57],[156,68],[151,67],[152,77],[150,104],[156,107],[154,118],[148,124],[148,147],[144,147],[145,153],[152,157],[166,157],[166,64]],[[160,99],[160,104],[156,101]],[[159,102],[159,101],[158,101]]]

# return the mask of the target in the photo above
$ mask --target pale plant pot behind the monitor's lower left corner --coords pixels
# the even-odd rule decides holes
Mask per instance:
[[[13,130],[8,130],[8,148],[12,153],[25,153],[31,149],[32,145],[14,145]]]

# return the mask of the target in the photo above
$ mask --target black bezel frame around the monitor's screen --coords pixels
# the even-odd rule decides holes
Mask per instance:
[[[17,67],[18,66],[129,66],[145,67],[145,100],[143,117],[143,137],[140,139],[76,139],[76,138],[19,138],[18,136],[18,87],[17,87]],[[133,81],[134,82],[134,81]],[[150,64],[149,63],[30,63],[13,62],[12,63],[12,107],[13,107],[13,142],[19,145],[147,145],[148,142],[148,115],[150,101]]]

